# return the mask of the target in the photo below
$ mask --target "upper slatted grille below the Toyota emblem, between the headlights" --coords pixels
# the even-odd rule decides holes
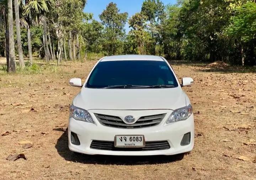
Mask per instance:
[[[156,114],[151,116],[140,117],[134,124],[126,124],[120,117],[105,114],[95,114],[98,121],[105,125],[115,128],[145,128],[158,125],[165,117],[165,114]]]

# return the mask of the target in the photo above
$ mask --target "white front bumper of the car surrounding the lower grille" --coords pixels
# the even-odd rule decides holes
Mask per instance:
[[[91,113],[92,114],[92,113]],[[167,114],[167,117],[169,114]],[[94,116],[92,118],[95,120]],[[96,124],[69,118],[68,139],[69,149],[84,154],[144,156],[144,155],[173,155],[189,152],[194,146],[194,117],[193,114],[184,121],[166,124],[164,119],[160,124],[147,128],[123,129],[104,126],[95,120]],[[80,145],[70,141],[71,132],[77,134]],[[184,134],[191,133],[190,144],[181,146]],[[170,148],[153,151],[110,151],[90,148],[92,140],[114,141],[115,135],[144,135],[145,141],[168,141]]]

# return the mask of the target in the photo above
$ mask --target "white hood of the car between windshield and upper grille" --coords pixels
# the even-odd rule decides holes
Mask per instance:
[[[73,100],[73,104],[86,110],[174,110],[186,106],[186,97],[180,87],[161,89],[92,89],[83,87]]]

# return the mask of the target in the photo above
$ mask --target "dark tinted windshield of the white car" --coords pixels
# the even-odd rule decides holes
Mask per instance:
[[[174,88],[177,81],[164,61],[105,61],[92,71],[87,88]]]

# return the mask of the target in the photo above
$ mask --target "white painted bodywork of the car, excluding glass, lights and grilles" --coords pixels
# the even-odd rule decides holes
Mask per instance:
[[[169,63],[159,56],[144,55],[124,55],[104,57],[99,62],[104,61],[165,61],[174,73]],[[85,154],[105,154],[123,156],[143,156],[143,155],[172,155],[189,152],[194,146],[194,118],[193,114],[186,120],[166,124],[171,113],[178,108],[190,104],[190,99],[181,89],[180,84],[176,88],[156,88],[156,89],[94,89],[86,88],[86,82],[93,69],[89,73],[79,94],[74,98],[73,105],[87,110],[95,124],[69,118],[68,137],[69,149],[74,152]],[[175,78],[178,82],[176,74]],[[105,114],[120,117],[122,120],[128,115],[132,115],[138,120],[142,116],[155,114],[165,114],[165,117],[158,125],[145,128],[114,128],[101,124],[95,116]],[[70,141],[70,133],[77,134],[80,145],[74,145]],[[184,134],[191,133],[190,144],[181,146]],[[145,141],[168,141],[170,149],[154,151],[108,151],[90,148],[93,140],[114,141],[115,135],[144,135]]]

